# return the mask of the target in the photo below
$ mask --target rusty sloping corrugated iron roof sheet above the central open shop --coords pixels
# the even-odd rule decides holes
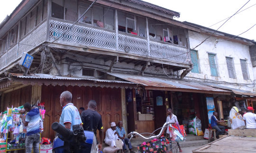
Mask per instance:
[[[203,90],[203,91],[215,91],[215,92],[227,92],[230,91],[217,89],[207,85],[196,84],[192,82],[186,82],[181,80],[174,80],[162,77],[153,76],[137,76],[131,74],[120,74],[120,73],[108,73],[109,75],[122,78],[124,80],[134,82],[145,86],[155,87],[168,87],[168,88],[181,88],[181,89],[192,89],[192,90]]]

